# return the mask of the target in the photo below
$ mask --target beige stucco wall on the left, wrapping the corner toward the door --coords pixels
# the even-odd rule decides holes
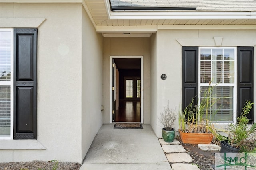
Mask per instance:
[[[38,139],[1,140],[1,162],[81,163],[102,125],[101,35],[80,3],[1,4],[0,12],[1,27],[43,21],[29,23],[38,26]]]

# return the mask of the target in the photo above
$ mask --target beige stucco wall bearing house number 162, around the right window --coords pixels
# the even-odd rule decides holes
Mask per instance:
[[[254,58],[256,57],[256,29],[169,29],[158,30],[157,36],[152,35],[151,41],[151,100],[157,93],[157,101],[152,110],[160,113],[164,111],[167,100],[170,108],[178,110],[182,101],[182,45],[183,46],[216,46],[214,37],[222,37],[223,46],[254,46]],[[200,41],[198,41],[200,40]],[[153,43],[155,42],[155,43]],[[181,44],[180,44],[181,43]],[[234,45],[236,44],[236,45]],[[157,47],[157,50],[154,48]],[[157,51],[157,52],[156,52]],[[157,56],[157,57],[156,57]],[[154,65],[156,63],[156,65]],[[256,72],[256,60],[254,60],[254,72]],[[154,66],[157,66],[157,71]],[[154,74],[153,74],[154,73]],[[161,80],[160,75],[166,74],[167,79]],[[254,84],[255,84],[254,74]],[[157,82],[157,84],[155,83]],[[157,90],[156,90],[157,89]],[[157,92],[156,92],[157,91]],[[256,91],[254,90],[254,101],[256,101]],[[155,96],[155,95],[154,95]],[[156,107],[156,108],[155,108]],[[151,119],[154,113],[151,113]],[[254,121],[256,114],[254,113]],[[157,126],[155,126],[155,123]],[[162,137],[162,125],[157,121],[151,121],[151,125],[158,137]],[[175,123],[178,130],[178,120]]]

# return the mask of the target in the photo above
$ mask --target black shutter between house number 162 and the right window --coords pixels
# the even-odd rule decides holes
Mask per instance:
[[[182,110],[198,101],[198,47],[182,47]]]

